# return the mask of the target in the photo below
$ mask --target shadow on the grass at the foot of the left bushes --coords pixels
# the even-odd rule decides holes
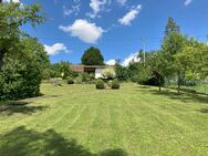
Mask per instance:
[[[43,111],[48,106],[34,106],[30,105],[31,102],[27,101],[13,101],[13,102],[6,102],[6,104],[2,104],[0,106],[0,113],[3,113],[4,115],[12,115],[15,113],[21,114],[32,114],[37,111]]]

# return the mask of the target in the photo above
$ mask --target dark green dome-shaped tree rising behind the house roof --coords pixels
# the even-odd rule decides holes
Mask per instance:
[[[84,52],[81,61],[84,65],[104,65],[104,58],[101,51],[93,46]]]

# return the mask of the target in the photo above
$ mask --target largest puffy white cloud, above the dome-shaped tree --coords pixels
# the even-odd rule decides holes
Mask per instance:
[[[85,43],[96,43],[104,32],[101,27],[83,19],[75,20],[72,25],[60,25],[59,28],[64,32],[70,32],[72,37],[77,37]]]

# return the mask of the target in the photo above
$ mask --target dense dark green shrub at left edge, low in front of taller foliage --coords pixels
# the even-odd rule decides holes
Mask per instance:
[[[25,56],[25,55],[24,55]],[[22,56],[23,58],[23,56]],[[0,72],[0,100],[19,100],[40,95],[41,70],[35,61],[6,56]]]

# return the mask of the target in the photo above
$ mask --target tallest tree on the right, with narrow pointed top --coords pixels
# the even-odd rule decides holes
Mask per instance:
[[[163,71],[169,71],[166,73],[167,76],[176,76],[178,93],[184,79],[184,71],[176,60],[177,53],[181,53],[186,46],[187,39],[179,33],[179,25],[177,25],[173,19],[168,20],[165,31],[165,38],[162,45],[162,63],[164,63]]]

